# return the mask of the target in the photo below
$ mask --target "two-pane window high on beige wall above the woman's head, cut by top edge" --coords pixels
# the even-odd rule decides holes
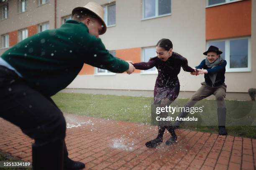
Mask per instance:
[[[171,0],[143,0],[143,18],[155,18],[171,14]]]

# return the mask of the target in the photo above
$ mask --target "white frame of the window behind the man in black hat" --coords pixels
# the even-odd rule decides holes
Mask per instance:
[[[248,39],[248,67],[247,68],[230,68],[230,41]],[[207,49],[209,48],[210,42],[225,41],[225,60],[227,61],[226,72],[251,72],[251,37],[239,37],[239,38],[225,38],[213,41],[207,41]],[[206,51],[207,51],[206,49]],[[221,55],[220,55],[221,56]]]

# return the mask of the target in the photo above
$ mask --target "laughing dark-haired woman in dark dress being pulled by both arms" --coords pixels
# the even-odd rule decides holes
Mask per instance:
[[[154,88],[154,104],[156,107],[169,107],[169,105],[179,95],[178,74],[182,67],[184,71],[194,72],[188,66],[187,59],[172,51],[172,41],[161,39],[156,44],[156,54],[148,62],[133,63],[133,66],[139,70],[148,70],[154,66],[158,70],[156,84]],[[168,116],[168,112],[161,112],[160,117]],[[164,131],[167,129],[172,137],[166,141],[166,145],[171,145],[177,140],[171,122],[159,121],[159,130],[156,139],[146,142],[146,147],[156,147],[163,142]]]

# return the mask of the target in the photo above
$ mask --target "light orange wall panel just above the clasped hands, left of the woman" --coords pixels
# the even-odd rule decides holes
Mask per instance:
[[[141,48],[128,48],[116,50],[115,55],[123,60],[133,61],[133,63],[141,62]],[[140,73],[140,70],[135,70],[134,73]]]

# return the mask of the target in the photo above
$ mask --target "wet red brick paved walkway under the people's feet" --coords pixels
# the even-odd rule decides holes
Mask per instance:
[[[131,122],[65,114],[69,157],[86,169],[188,169],[254,170],[256,139],[177,130],[178,142],[166,146],[169,133],[157,149],[145,147],[156,137],[157,127]],[[31,161],[33,140],[0,119],[0,150]]]

